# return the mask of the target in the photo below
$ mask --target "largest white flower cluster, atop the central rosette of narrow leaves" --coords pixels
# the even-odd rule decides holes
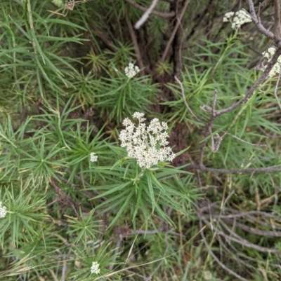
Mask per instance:
[[[135,112],[133,118],[138,118],[138,127],[136,127],[129,118],[125,118],[123,125],[126,127],[120,132],[119,139],[121,146],[126,147],[128,156],[136,158],[139,167],[143,170],[150,169],[152,165],[157,165],[158,161],[172,161],[176,155],[171,151],[171,147],[166,146],[169,137],[166,130],[166,122],[160,123],[157,118],[150,121],[146,126],[145,114]]]

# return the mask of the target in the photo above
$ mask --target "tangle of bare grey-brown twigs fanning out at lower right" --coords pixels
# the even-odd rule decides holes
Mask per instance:
[[[252,233],[254,235],[279,238],[281,237],[281,231],[277,231],[277,228],[281,229],[281,227],[277,226],[275,228],[275,226],[266,224],[263,220],[270,219],[270,222],[272,224],[272,220],[279,222],[281,220],[280,217],[271,213],[256,210],[242,212],[240,210],[235,210],[232,207],[221,208],[221,204],[219,202],[208,203],[207,201],[203,201],[200,202],[198,205],[200,206],[200,211],[195,212],[197,213],[197,217],[200,220],[200,228],[202,228],[203,221],[204,224],[206,224],[206,226],[208,226],[211,232],[213,233],[213,238],[216,238],[218,240],[219,245],[221,245],[221,247],[223,247],[226,252],[228,252],[229,254],[233,253],[231,256],[233,256],[236,261],[239,261],[240,263],[245,263],[245,261],[242,261],[240,258],[238,258],[238,256],[236,256],[236,254],[234,254],[237,253],[237,245],[232,245],[231,242],[235,242],[238,245],[242,245],[242,247],[256,249],[257,251],[263,253],[275,254],[277,256],[281,254],[280,250],[278,250],[277,248],[263,247],[263,245],[257,245],[253,242],[249,242],[242,236],[238,235],[237,231],[235,231],[236,228],[240,228],[240,230],[247,231],[248,233]],[[240,221],[242,221],[243,224]],[[247,221],[250,221],[251,224],[256,225],[256,228],[251,228],[250,226],[247,226]],[[231,228],[228,225],[233,225],[233,227]],[[266,228],[273,228],[273,231],[263,230],[260,227],[261,225],[266,226]],[[241,231],[239,231],[239,233],[241,233]],[[204,237],[204,233],[202,233],[201,235],[204,240],[204,244],[209,250],[209,253],[214,257],[216,261],[218,261],[214,255],[214,252],[212,252],[211,246],[207,242],[207,239]],[[223,242],[223,240],[226,240],[226,242],[228,242],[228,247],[226,246],[225,242]],[[230,251],[229,247],[233,249],[233,252]],[[244,256],[245,259],[250,259],[249,256],[244,255],[243,252],[238,253],[239,256]],[[256,261],[255,259],[251,260]],[[223,263],[219,264],[223,269],[229,269],[224,267]],[[244,266],[251,268],[251,266],[246,263],[244,264]],[[272,264],[272,266],[277,266],[280,268],[280,266],[276,264]]]

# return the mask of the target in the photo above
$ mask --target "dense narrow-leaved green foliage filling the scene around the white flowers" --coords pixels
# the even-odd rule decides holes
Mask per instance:
[[[170,2],[185,1],[157,11]],[[214,90],[226,109],[261,76],[266,39],[222,20],[238,2],[190,1],[164,55],[176,20],[134,30],[143,12],[127,1],[81,1],[65,17],[64,1],[1,1],[0,280],[239,280],[210,252],[245,280],[278,280],[281,172],[236,171],[280,165],[276,78],[214,121],[228,135],[216,153],[208,136],[202,158],[221,170],[195,167]],[[119,133],[136,111],[168,123],[174,162],[142,170],[127,157]]]

